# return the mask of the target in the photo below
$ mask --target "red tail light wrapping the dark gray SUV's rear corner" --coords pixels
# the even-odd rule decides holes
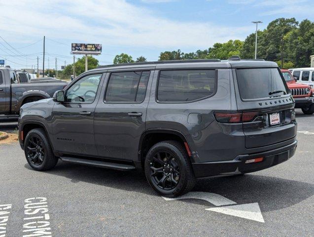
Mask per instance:
[[[258,116],[258,112],[243,112],[243,113],[220,113],[215,112],[214,116],[218,122],[223,123],[239,123],[251,122]]]

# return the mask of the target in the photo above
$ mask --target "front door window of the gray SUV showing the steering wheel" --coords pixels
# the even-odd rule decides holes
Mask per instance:
[[[66,102],[93,103],[102,74],[85,76],[67,90]]]

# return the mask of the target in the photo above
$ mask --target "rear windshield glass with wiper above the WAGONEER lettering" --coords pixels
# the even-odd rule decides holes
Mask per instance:
[[[237,69],[237,80],[242,99],[269,98],[287,93],[277,68]]]

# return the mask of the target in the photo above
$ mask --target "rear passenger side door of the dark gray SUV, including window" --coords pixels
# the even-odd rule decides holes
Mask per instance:
[[[95,110],[95,143],[100,157],[134,160],[145,131],[150,71],[111,72]]]

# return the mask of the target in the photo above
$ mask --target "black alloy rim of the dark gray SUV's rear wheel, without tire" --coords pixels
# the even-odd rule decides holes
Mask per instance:
[[[157,152],[150,162],[151,177],[163,190],[172,190],[180,179],[180,168],[175,157],[169,152]]]

